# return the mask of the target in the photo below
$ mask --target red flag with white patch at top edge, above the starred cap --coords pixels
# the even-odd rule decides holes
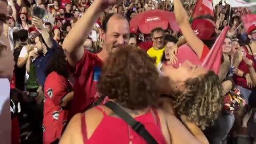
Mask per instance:
[[[192,18],[210,14],[214,17],[212,0],[198,0],[192,14]]]

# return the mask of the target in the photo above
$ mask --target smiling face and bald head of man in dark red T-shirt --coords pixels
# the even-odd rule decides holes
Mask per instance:
[[[128,44],[129,35],[130,27],[128,21],[121,15],[113,15],[107,23],[107,30],[101,31],[101,37],[104,42],[103,49],[108,53],[116,51],[119,46]]]

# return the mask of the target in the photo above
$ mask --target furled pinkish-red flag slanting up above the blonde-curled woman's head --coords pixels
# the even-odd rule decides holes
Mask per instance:
[[[221,57],[222,57],[222,49],[221,46],[225,40],[226,34],[229,30],[229,26],[226,26],[222,31],[220,36],[216,39],[215,43],[212,46],[211,51],[207,54],[206,58],[202,63],[202,67],[213,70],[215,74],[219,74]]]

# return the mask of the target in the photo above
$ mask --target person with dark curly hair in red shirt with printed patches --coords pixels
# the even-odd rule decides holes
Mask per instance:
[[[52,143],[59,139],[67,122],[68,104],[74,93],[66,63],[66,56],[59,49],[45,70],[43,143]]]

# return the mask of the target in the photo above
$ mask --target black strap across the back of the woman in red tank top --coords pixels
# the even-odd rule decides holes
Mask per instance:
[[[137,132],[144,140],[149,144],[156,144],[157,141],[152,137],[152,135],[145,129],[145,126],[136,121],[132,116],[130,116],[126,111],[119,107],[115,102],[109,101],[105,103],[105,106],[111,109],[116,115],[122,118],[132,129]]]

